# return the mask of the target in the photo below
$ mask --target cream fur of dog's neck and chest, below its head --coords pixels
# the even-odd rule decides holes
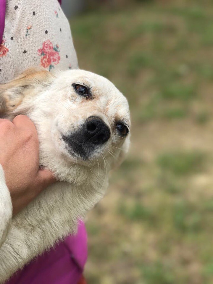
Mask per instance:
[[[78,220],[102,198],[108,185],[105,169],[94,167],[90,171],[79,164],[71,167],[72,164],[64,163],[53,151],[53,145],[46,144],[48,124],[37,119],[36,110],[26,114],[37,125],[41,164],[67,181],[50,185],[12,218],[0,248],[0,283],[58,240],[75,233]]]

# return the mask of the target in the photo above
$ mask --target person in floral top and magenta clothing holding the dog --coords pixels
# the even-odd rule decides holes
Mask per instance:
[[[28,67],[41,66],[50,72],[78,68],[69,22],[60,2],[0,0],[0,83]],[[0,119],[0,153],[0,194],[2,187],[9,189],[15,215],[55,179],[50,171],[39,167],[38,136],[26,116],[19,115],[12,122]],[[85,283],[82,273],[86,259],[86,230],[79,221],[77,235],[39,255],[7,284]]]

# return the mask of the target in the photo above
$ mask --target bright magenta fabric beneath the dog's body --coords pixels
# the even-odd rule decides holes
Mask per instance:
[[[77,235],[67,237],[19,270],[5,284],[77,284],[87,259],[87,234],[82,221]]]

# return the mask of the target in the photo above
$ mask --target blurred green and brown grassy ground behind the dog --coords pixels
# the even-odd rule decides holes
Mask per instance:
[[[213,2],[63,5],[80,68],[132,116],[128,158],[86,223],[88,283],[213,283]]]

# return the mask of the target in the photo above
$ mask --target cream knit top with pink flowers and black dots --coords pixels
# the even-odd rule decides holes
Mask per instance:
[[[0,83],[39,66],[78,68],[69,22],[57,0],[7,0]]]

